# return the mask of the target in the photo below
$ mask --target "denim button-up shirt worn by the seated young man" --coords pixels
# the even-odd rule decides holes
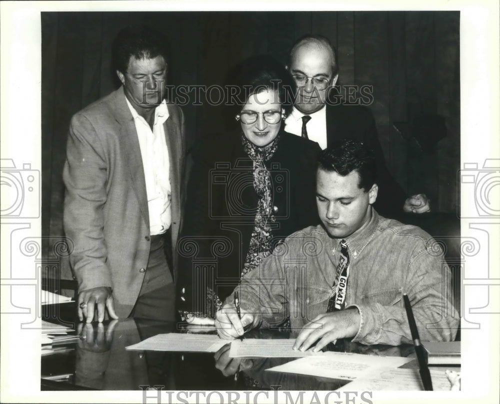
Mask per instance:
[[[353,341],[411,343],[403,293],[421,340],[454,339],[459,317],[451,301],[450,271],[430,235],[372,210],[369,222],[345,240],[350,258],[345,308],[356,307],[361,319]],[[241,278],[241,308],[271,327],[289,316],[292,331],[299,331],[326,312],[339,253],[340,239],[321,226],[293,233]]]

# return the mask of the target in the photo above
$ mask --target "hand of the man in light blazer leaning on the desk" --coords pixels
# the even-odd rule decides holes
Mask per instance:
[[[106,308],[111,318],[118,319],[118,316],[114,312],[114,300],[111,288],[101,286],[82,290],[78,294],[78,318],[80,321],[83,321],[85,317],[87,323],[92,322],[96,304],[99,322],[104,320],[104,310]]]

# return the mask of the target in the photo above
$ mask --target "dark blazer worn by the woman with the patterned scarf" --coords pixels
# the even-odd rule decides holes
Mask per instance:
[[[281,131],[265,163],[272,183],[270,223],[275,243],[319,223],[315,202],[316,161],[321,151],[310,140]],[[258,197],[253,163],[241,132],[202,139],[192,151],[185,221],[177,251],[179,310],[204,311],[206,286],[223,299],[239,283],[254,227]],[[194,288],[193,284],[198,285]]]

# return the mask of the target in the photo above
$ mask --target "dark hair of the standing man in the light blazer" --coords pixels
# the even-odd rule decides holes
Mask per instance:
[[[146,25],[129,26],[121,30],[111,48],[113,68],[126,73],[131,56],[153,59],[162,56],[168,66],[169,51],[166,36]]]

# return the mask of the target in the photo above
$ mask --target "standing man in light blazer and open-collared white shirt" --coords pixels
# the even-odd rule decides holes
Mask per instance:
[[[122,86],[72,117],[63,170],[78,316],[172,320],[184,118],[164,99],[161,33],[128,27],[112,52]]]

